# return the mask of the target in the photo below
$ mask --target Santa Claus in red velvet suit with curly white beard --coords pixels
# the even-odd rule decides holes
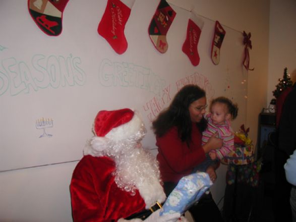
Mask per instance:
[[[93,131],[71,180],[74,221],[179,219],[179,213],[159,215],[166,196],[156,158],[141,146],[146,129],[138,113],[102,110]]]

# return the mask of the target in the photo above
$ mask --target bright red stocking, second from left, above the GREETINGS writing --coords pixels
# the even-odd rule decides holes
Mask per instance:
[[[115,52],[122,54],[128,48],[125,26],[135,0],[108,0],[98,33],[104,37]]]

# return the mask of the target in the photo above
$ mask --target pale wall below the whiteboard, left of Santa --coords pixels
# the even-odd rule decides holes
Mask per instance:
[[[0,221],[72,221],[69,184],[76,164],[0,173]]]

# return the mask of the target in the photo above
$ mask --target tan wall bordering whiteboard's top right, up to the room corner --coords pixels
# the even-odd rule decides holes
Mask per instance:
[[[194,1],[194,0],[193,0]],[[194,1],[199,14],[239,31],[251,32],[246,127],[257,141],[258,115],[266,105],[268,79],[269,1]],[[223,48],[222,50],[227,50]]]

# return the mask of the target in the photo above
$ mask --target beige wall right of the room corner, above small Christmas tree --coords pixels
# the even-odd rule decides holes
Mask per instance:
[[[287,73],[296,72],[296,1],[270,0],[267,105],[272,91]],[[296,76],[296,75],[295,75]]]

